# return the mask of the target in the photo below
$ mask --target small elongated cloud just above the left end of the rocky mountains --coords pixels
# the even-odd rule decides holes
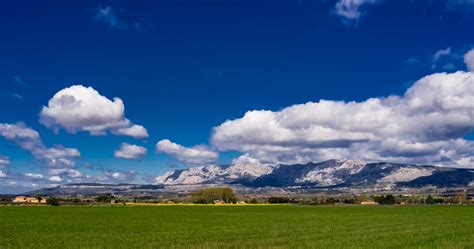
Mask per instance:
[[[186,148],[182,145],[171,142],[168,139],[159,141],[156,144],[156,151],[166,153],[178,161],[189,165],[202,165],[214,163],[219,154],[205,146],[195,146]]]

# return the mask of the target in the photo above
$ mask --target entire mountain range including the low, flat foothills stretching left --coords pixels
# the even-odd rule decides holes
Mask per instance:
[[[400,189],[474,188],[474,170],[429,165],[328,160],[294,165],[210,165],[169,171],[155,184],[77,183],[43,188],[25,194],[139,196],[177,193],[204,186],[230,185],[239,189],[324,189],[348,192]]]

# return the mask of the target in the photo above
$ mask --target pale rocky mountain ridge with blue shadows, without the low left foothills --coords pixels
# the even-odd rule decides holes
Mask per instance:
[[[167,172],[156,178],[156,184],[354,189],[387,186],[450,188],[472,187],[474,170],[360,160],[329,160],[277,166],[212,165]]]

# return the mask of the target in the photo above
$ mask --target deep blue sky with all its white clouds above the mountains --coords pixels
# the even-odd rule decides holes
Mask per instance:
[[[474,168],[474,1],[8,1],[0,193],[210,164]]]

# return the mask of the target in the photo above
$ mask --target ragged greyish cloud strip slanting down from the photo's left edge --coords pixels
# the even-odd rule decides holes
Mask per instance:
[[[50,168],[74,168],[79,150],[56,146],[48,148],[43,144],[39,133],[23,123],[0,123],[0,136],[18,144],[29,151],[38,161]]]

